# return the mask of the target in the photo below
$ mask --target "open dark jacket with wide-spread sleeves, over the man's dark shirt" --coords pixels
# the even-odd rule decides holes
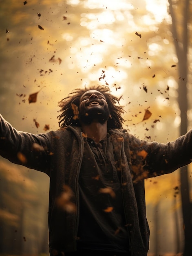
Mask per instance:
[[[121,186],[132,256],[146,256],[149,227],[144,179],[171,173],[192,159],[192,130],[167,144],[147,142],[126,130],[108,130],[121,168]],[[76,250],[79,222],[79,171],[84,143],[80,127],[44,134],[19,132],[0,115],[0,155],[50,177],[50,256]]]

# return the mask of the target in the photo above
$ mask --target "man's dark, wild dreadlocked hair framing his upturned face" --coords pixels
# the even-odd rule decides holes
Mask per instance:
[[[111,119],[109,118],[107,121],[107,127],[122,129],[122,124],[125,121],[121,117],[121,114],[124,113],[123,107],[116,105],[116,103],[119,103],[119,99],[113,96],[108,86],[105,85],[95,85],[90,88],[75,89],[68,94],[68,97],[62,99],[59,102],[59,107],[61,109],[58,111],[62,113],[57,117],[60,120],[59,126],[62,128],[69,125],[81,126],[78,118],[79,101],[84,92],[88,90],[97,90],[105,96],[111,115]]]

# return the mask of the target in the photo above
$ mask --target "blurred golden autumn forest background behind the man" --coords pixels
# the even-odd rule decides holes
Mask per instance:
[[[18,130],[56,130],[61,99],[105,84],[124,106],[124,128],[176,139],[192,128],[191,8],[190,0],[0,0],[1,114]],[[189,165],[146,180],[150,256],[192,255],[191,176]],[[48,254],[48,198],[49,177],[0,158],[0,255]]]

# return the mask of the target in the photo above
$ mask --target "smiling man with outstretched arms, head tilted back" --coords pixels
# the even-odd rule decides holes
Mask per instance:
[[[144,179],[189,164],[192,131],[167,144],[122,129],[123,109],[106,86],[60,102],[60,129],[18,132],[0,116],[0,155],[50,177],[50,255],[146,256]]]

